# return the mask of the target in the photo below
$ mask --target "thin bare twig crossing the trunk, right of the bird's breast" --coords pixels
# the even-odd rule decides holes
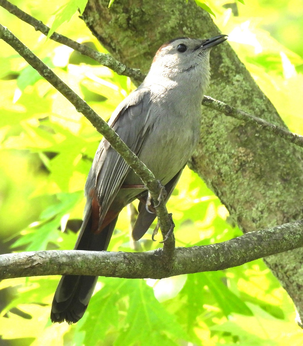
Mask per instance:
[[[229,106],[228,104],[222,101],[215,100],[210,96],[204,96],[202,104],[204,106],[218,110],[219,112],[224,113],[228,117],[233,117],[239,120],[243,120],[245,122],[249,122],[250,124],[254,124],[255,126],[258,126],[263,130],[266,130],[275,135],[278,135],[281,138],[286,139],[288,142],[291,142],[299,147],[303,147],[303,136],[294,134],[282,126],[271,124],[266,120],[257,118],[243,110]]]

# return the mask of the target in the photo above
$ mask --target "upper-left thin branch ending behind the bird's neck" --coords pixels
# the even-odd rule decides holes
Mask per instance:
[[[36,31],[40,31],[45,36],[48,35],[49,27],[44,25],[41,20],[37,20],[36,18],[30,16],[28,13],[20,10],[17,6],[13,5],[7,0],[0,0],[0,6],[5,8],[12,15],[33,26]],[[80,44],[66,36],[57,33],[53,33],[50,36],[50,39],[58,43],[64,44],[74,49],[75,51],[80,52],[83,55],[89,56],[101,65],[108,67],[109,69],[113,70],[114,72],[120,75],[130,77],[136,84],[140,84],[145,78],[144,74],[140,70],[131,69],[125,66],[118,60],[114,59],[110,54],[97,52],[94,49],[85,46],[84,44]]]

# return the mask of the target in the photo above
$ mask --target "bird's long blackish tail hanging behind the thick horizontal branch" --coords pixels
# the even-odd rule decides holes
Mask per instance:
[[[87,219],[86,219],[87,218]],[[105,251],[112,236],[117,218],[114,218],[98,234],[92,233],[92,217],[86,215],[75,249]],[[62,276],[52,304],[52,322],[75,323],[80,320],[93,294],[98,276]]]

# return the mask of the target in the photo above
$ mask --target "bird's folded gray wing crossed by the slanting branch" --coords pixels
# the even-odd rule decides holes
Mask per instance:
[[[109,125],[136,155],[149,133],[150,108],[149,90],[138,88],[118,106],[109,120]],[[100,206],[99,226],[129,170],[130,167],[120,154],[103,138],[85,184],[85,213],[90,212],[92,198],[97,196]]]

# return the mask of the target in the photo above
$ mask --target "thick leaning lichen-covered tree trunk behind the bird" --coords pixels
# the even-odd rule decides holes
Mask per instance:
[[[210,15],[193,0],[116,0],[110,8],[108,0],[89,0],[83,20],[117,60],[143,72],[164,42],[219,34]],[[227,43],[215,47],[210,60],[208,95],[285,126]],[[244,232],[303,218],[302,148],[284,139],[203,107],[201,139],[189,165]],[[302,248],[265,258],[301,317],[302,261]]]

